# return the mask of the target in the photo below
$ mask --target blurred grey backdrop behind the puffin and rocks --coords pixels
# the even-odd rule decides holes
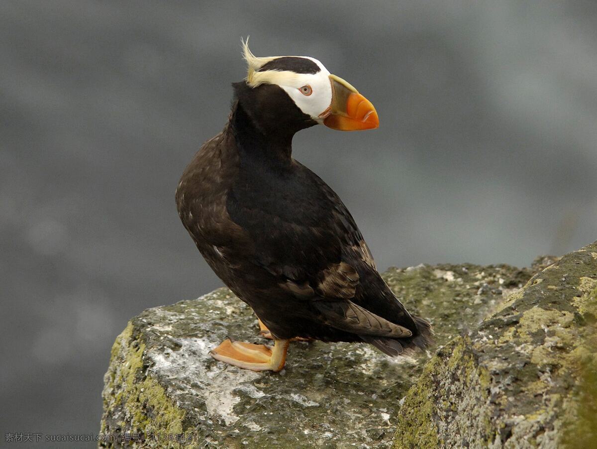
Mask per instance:
[[[595,1],[3,0],[2,434],[97,432],[127,320],[221,285],[174,189],[226,122],[247,35],[375,104],[379,130],[310,128],[294,156],[381,270],[597,239]]]

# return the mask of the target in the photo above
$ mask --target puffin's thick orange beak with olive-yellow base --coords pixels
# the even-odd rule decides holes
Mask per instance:
[[[379,118],[373,104],[349,83],[330,75],[332,103],[322,114],[324,125],[340,131],[371,130],[379,127]],[[327,114],[327,115],[326,115]]]

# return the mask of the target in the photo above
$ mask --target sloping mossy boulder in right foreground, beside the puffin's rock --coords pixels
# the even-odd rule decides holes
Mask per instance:
[[[595,447],[597,242],[562,257],[438,350],[395,448]]]

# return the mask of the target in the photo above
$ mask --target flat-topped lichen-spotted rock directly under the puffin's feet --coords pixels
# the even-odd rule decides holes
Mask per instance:
[[[391,268],[384,278],[445,345],[474,332],[531,275],[466,264]],[[296,342],[281,373],[208,355],[226,336],[263,342],[257,331],[249,307],[226,288],[131,319],[104,377],[101,433],[116,441],[100,447],[177,446],[164,440],[184,433],[190,441],[180,445],[189,447],[387,448],[401,398],[435,352],[392,359],[369,345]]]

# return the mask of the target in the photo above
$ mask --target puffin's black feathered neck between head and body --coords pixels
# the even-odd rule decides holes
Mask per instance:
[[[236,139],[241,162],[287,167],[292,163],[294,131],[276,129],[260,122],[250,107],[237,101],[232,107],[230,130]]]

